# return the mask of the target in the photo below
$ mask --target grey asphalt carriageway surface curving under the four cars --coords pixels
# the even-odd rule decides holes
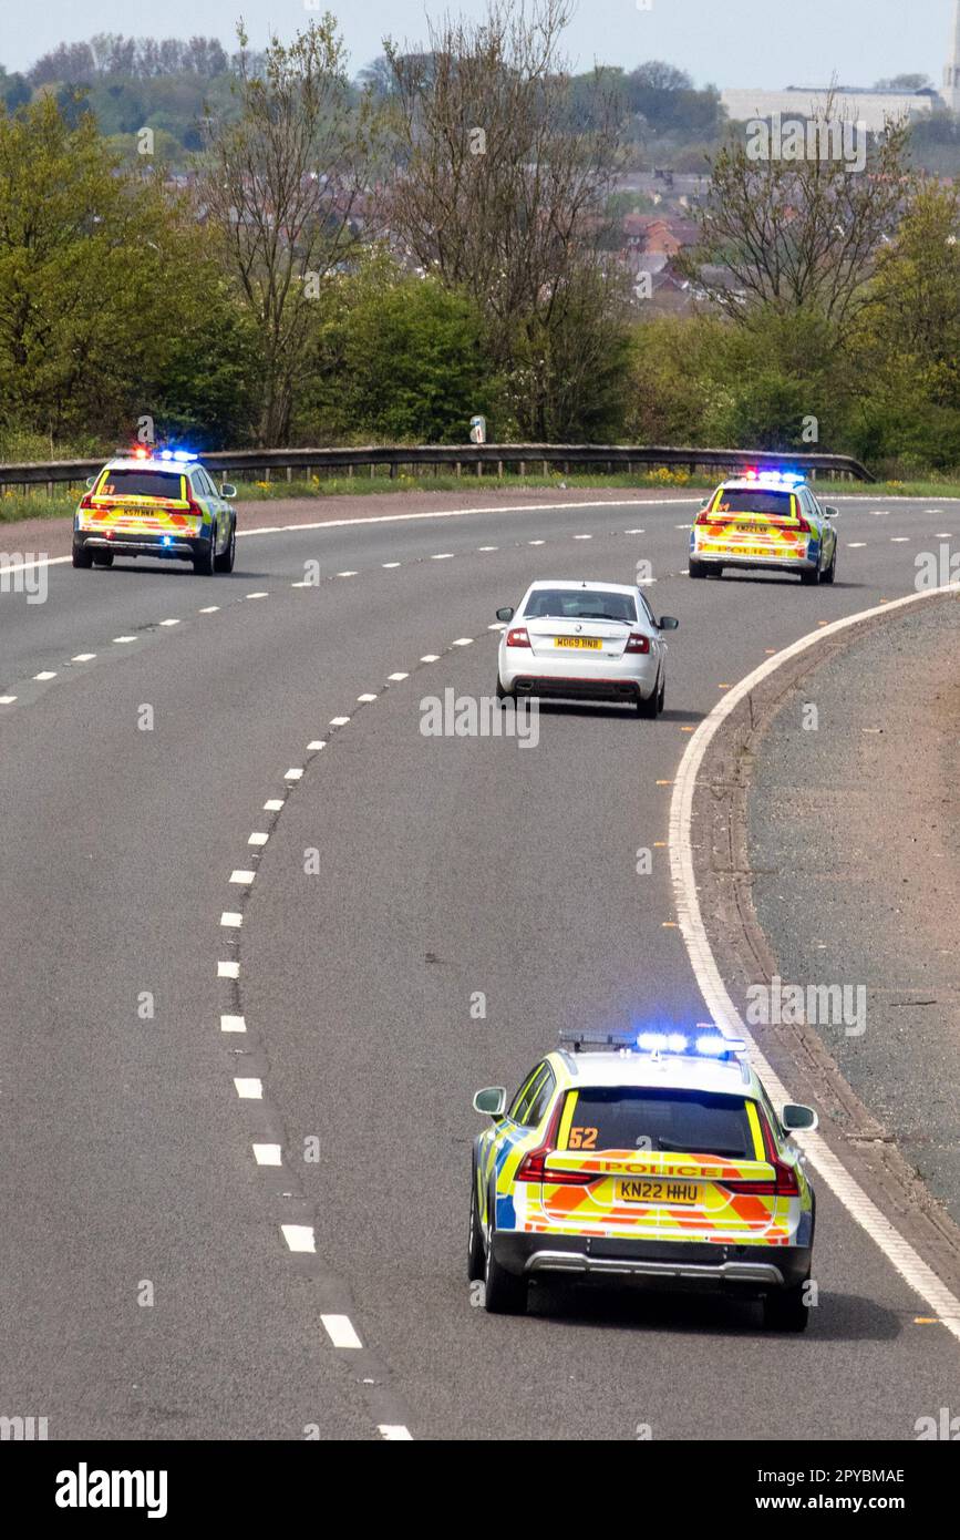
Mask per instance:
[[[958,504],[845,499],[835,587],[692,584],[695,500],[622,499],[0,594],[2,1414],[51,1438],[872,1440],[955,1404],[960,1346],[823,1190],[795,1340],[743,1303],[471,1300],[474,1089],[560,1027],[703,1012],[662,844],[686,730],[960,534]],[[494,610],[528,581],[640,559],[682,627],[660,721],[420,733],[426,696],[492,695]]]

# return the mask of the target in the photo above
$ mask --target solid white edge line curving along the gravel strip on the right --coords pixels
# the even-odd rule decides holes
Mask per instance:
[[[769,658],[766,662],[760,664],[758,668],[754,668],[752,673],[740,679],[738,684],[735,684],[734,688],[717,702],[712,711],[709,711],[709,715],[700,722],[686,747],[683,759],[680,761],[669,812],[671,878],[674,884],[674,899],[680,932],[683,935],[697,986],[703,995],[711,1018],[722,1032],[729,1036],[743,1038],[743,1041],[749,1046],[749,1060],[774,1101],[789,1101],[791,1096],[757,1047],[757,1043],[726,992],[726,986],[720,978],[717,959],[711,950],[706,929],[703,926],[703,916],[700,913],[691,842],[694,792],[697,788],[700,765],[703,764],[705,755],[714,736],[740,701],[743,701],[751,690],[754,690],[763,679],[769,678],[769,675],[780,668],[780,665],[789,658],[797,658],[800,653],[805,653],[808,648],[823,641],[825,636],[835,636],[840,631],[860,625],[863,621],[872,619],[874,616],[886,616],[895,610],[903,610],[908,605],[920,604],[923,599],[940,598],[945,593],[960,593],[960,584],[948,584],[942,588],[931,588],[925,593],[911,593],[902,599],[891,599],[889,604],[874,605],[869,610],[860,610],[857,614],[843,616],[840,621],[832,621],[829,625],[802,636],[797,642],[792,642],[789,647],[785,647],[783,651],[777,653],[775,658]],[[905,1283],[908,1283],[909,1287],[926,1301],[929,1309],[943,1321],[951,1335],[960,1341],[960,1300],[957,1300],[946,1284],[940,1281],[932,1267],[923,1261],[909,1241],[903,1240],[898,1230],[889,1223],[877,1204],[851,1177],[843,1163],[834,1155],[820,1133],[802,1135],[798,1143],[803,1146],[814,1170],[823,1178],[829,1190],[838,1203],[843,1204],[851,1218],[855,1220],[866,1235],[878,1246]]]

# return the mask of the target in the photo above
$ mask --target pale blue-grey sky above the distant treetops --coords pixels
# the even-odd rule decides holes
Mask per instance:
[[[425,15],[449,9],[478,17],[483,0],[318,0],[338,17],[351,72],[374,59],[380,38],[411,43],[426,34]],[[925,71],[940,85],[954,0],[578,0],[568,54],[586,69],[594,60],[632,68],[665,59],[697,85],[872,85],[882,75]],[[311,17],[311,0],[0,0],[0,63],[22,69],[58,42],[94,32],[137,37],[218,37],[229,45],[243,14],[251,43],[271,29],[291,37]],[[780,20],[777,20],[780,18]]]

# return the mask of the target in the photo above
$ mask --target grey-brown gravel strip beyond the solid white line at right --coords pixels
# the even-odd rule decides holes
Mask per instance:
[[[960,1221],[957,619],[915,605],[789,690],[758,745],[749,864],[780,975],[865,986],[863,1033],[822,1036]]]

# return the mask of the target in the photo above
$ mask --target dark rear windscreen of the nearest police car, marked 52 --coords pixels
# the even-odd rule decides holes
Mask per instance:
[[[574,1126],[597,1130],[591,1149],[674,1150],[754,1160],[742,1096],[703,1090],[625,1090],[598,1086],[577,1096]]]

